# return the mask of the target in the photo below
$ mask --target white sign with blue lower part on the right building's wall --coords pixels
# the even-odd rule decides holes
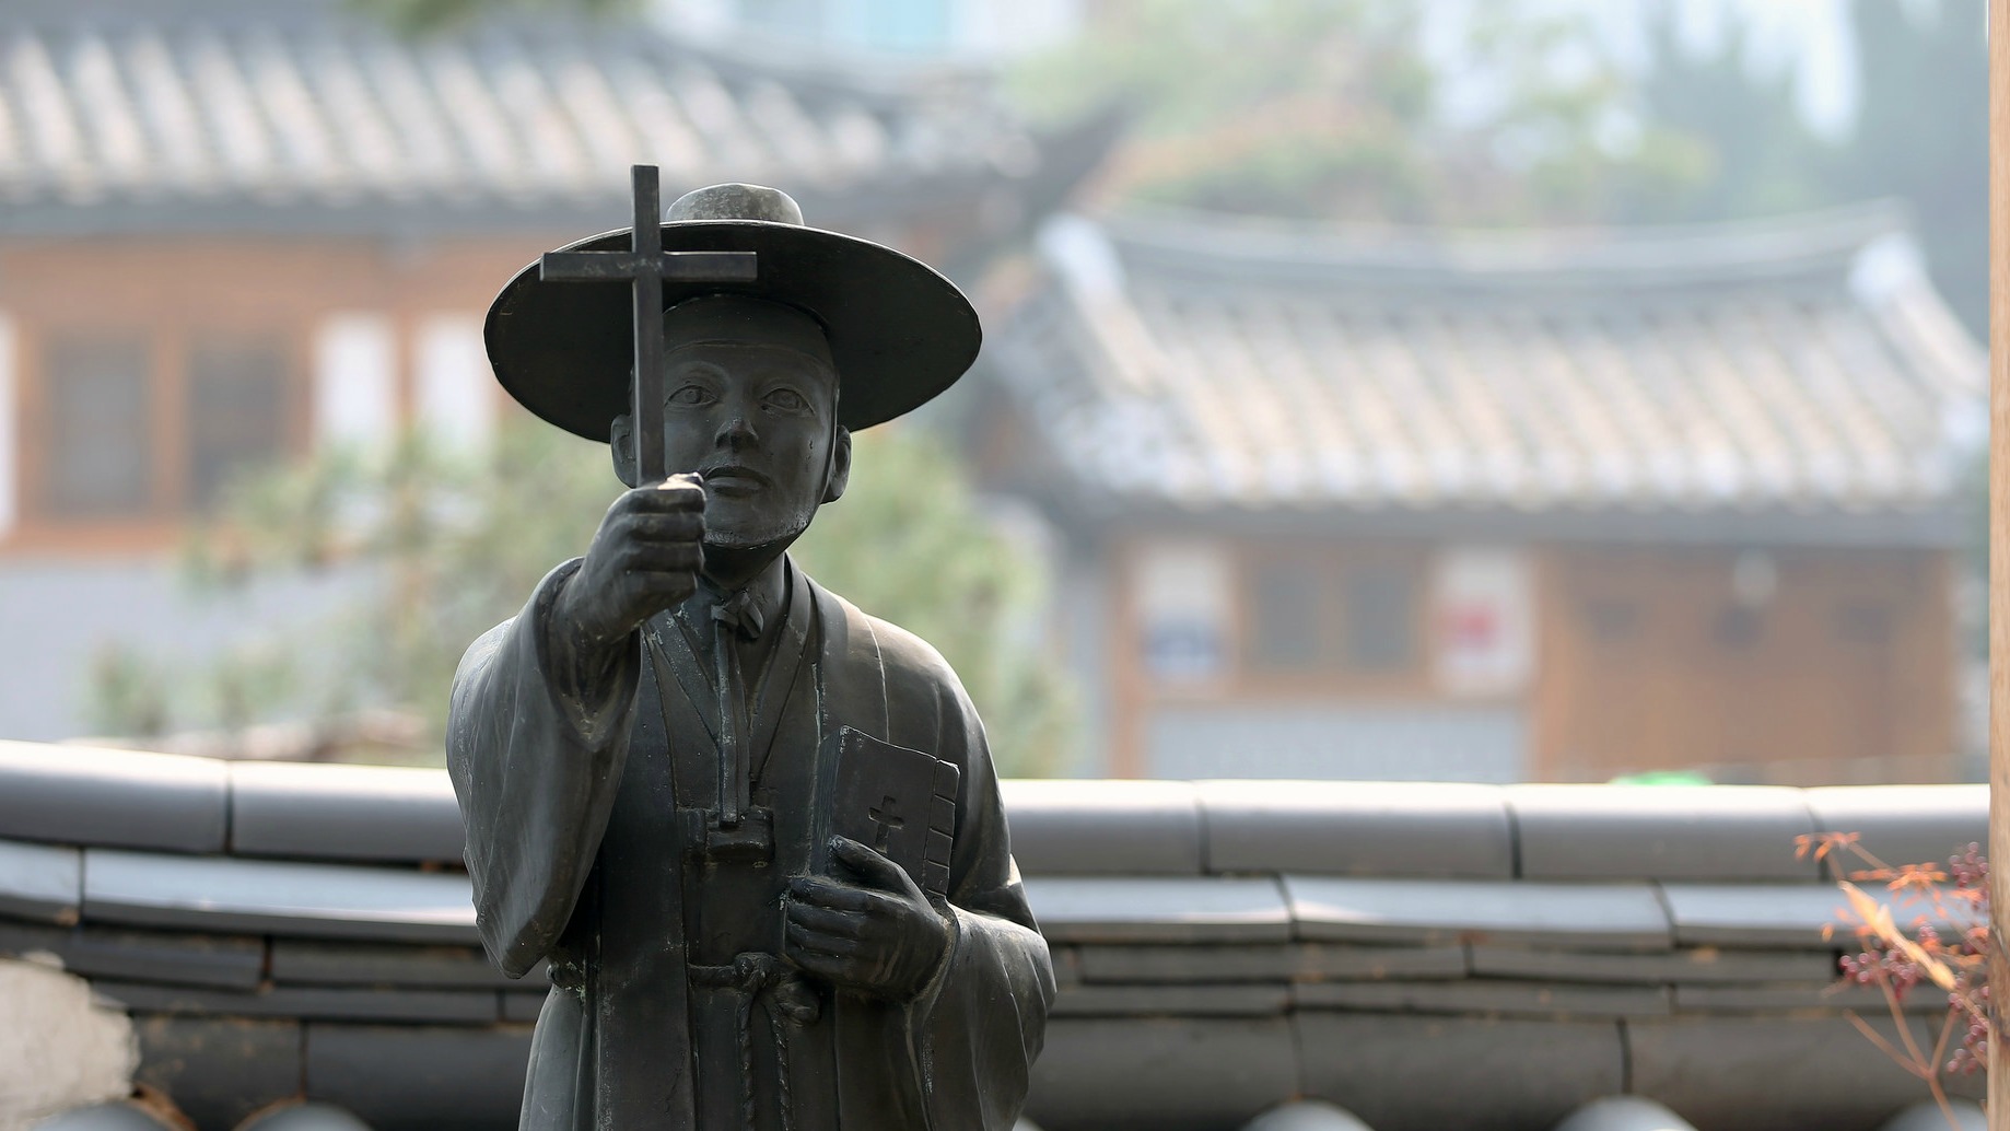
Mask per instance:
[[[1228,671],[1232,577],[1228,554],[1210,542],[1138,550],[1134,599],[1152,679],[1204,683]]]

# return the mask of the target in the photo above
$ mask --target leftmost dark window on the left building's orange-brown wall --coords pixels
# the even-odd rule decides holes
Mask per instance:
[[[153,510],[153,382],[141,335],[54,335],[44,352],[40,508],[58,518]]]

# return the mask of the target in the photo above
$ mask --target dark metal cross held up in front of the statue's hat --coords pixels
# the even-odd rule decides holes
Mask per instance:
[[[663,458],[663,279],[679,283],[752,283],[754,251],[663,251],[661,195],[655,165],[629,169],[635,189],[635,235],[627,251],[547,251],[537,277],[547,283],[629,283],[635,293],[635,482],[669,474]]]

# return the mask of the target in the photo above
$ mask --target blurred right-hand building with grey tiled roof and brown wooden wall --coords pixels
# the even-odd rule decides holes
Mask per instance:
[[[1958,773],[1986,366],[1899,211],[1065,219],[995,289],[1089,773]]]

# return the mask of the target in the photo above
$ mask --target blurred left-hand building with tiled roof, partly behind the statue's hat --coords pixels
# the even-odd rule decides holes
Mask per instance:
[[[161,552],[233,470],[410,422],[482,442],[509,410],[488,299],[623,227],[631,163],[665,197],[786,187],[810,223],[955,273],[1059,201],[1095,129],[1035,137],[981,72],[647,24],[404,40],[342,0],[10,0],[0,735],[74,733],[100,639],[217,637]]]

